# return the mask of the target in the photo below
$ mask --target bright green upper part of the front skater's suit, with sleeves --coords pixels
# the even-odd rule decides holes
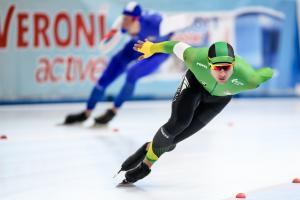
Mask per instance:
[[[150,53],[175,53],[195,75],[199,83],[213,96],[227,96],[258,87],[270,79],[270,68],[254,69],[240,56],[235,56],[234,72],[225,84],[218,84],[210,74],[208,48],[193,48],[182,42],[168,41],[151,45]]]

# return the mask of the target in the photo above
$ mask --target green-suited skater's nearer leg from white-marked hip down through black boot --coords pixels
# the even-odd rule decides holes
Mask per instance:
[[[126,172],[125,182],[133,183],[147,176],[151,171],[152,163],[164,152],[174,149],[174,138],[191,123],[202,94],[197,88],[192,87],[194,79],[189,81],[189,78],[192,77],[188,71],[173,99],[172,114],[169,121],[157,131],[153,141],[149,144],[144,162]]]

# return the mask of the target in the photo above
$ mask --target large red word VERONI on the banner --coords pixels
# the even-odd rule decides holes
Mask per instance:
[[[96,48],[107,34],[106,14],[22,10],[16,4],[11,4],[6,14],[3,10],[1,8],[0,49],[14,42],[18,49],[61,48],[69,52],[70,47],[73,49],[83,45]],[[16,38],[11,38],[11,32],[16,34]]]

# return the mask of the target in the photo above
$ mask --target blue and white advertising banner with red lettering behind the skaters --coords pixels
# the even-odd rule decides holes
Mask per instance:
[[[137,2],[143,11],[164,17],[188,16],[192,25],[178,28],[172,40],[199,47],[225,40],[255,68],[269,66],[276,71],[268,83],[241,96],[295,94],[300,79],[296,1]],[[2,0],[0,101],[86,99],[110,58],[130,39],[119,32],[101,44],[127,3]],[[171,56],[156,73],[138,82],[135,97],[171,98],[185,70]],[[119,92],[124,77],[109,87],[108,96]]]

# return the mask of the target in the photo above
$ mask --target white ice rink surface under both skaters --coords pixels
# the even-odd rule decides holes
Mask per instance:
[[[98,104],[95,115],[110,104]],[[84,104],[0,106],[1,200],[299,200],[300,99],[234,99],[133,187],[121,163],[167,121],[169,101],[128,102],[106,128],[58,126]],[[281,185],[283,184],[283,185]],[[253,192],[254,191],[254,192]],[[255,192],[256,191],[256,192]]]

